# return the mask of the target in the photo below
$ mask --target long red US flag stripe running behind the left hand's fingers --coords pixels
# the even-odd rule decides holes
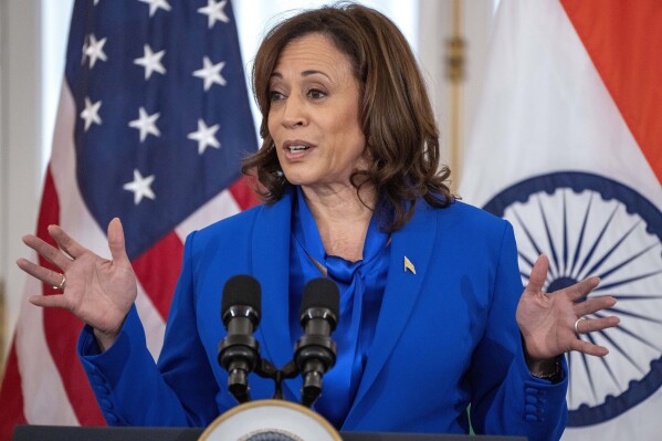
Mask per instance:
[[[36,235],[55,245],[48,227],[60,221],[60,200],[50,168],[46,170],[44,191],[36,224]],[[60,271],[40,258],[42,266]],[[42,284],[44,295],[55,294],[52,286]],[[44,308],[44,333],[51,357],[57,367],[69,401],[83,426],[105,426],[102,412],[76,354],[76,342],[83,322],[69,311]],[[56,406],[56,403],[55,403]]]

